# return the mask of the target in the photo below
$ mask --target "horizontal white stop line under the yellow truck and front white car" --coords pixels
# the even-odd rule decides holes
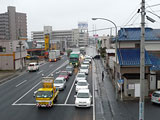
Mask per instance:
[[[18,103],[18,104],[14,104],[13,106],[36,106],[36,103]],[[75,106],[75,104],[54,104],[54,106],[72,107],[72,106]],[[93,104],[91,104],[91,107],[93,107]]]

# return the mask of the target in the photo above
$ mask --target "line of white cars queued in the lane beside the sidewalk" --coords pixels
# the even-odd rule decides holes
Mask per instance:
[[[89,74],[90,64],[92,58],[90,56],[85,56],[81,66],[79,68],[79,73],[75,77],[76,88],[75,92],[75,106],[76,107],[90,107],[92,102],[92,95],[89,90],[89,83],[87,81],[87,75]]]

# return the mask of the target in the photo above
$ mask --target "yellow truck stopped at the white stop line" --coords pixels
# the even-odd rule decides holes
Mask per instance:
[[[36,91],[37,107],[52,107],[57,101],[59,90],[54,86],[53,77],[42,77],[42,88]]]

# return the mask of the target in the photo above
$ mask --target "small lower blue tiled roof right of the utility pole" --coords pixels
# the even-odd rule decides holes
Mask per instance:
[[[152,54],[149,54],[149,58],[152,62],[152,66],[150,67],[151,71],[159,71],[160,70],[160,58],[157,56],[154,56]]]

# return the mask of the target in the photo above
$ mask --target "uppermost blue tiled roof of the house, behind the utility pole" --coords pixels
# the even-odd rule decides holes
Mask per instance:
[[[118,41],[139,41],[141,28],[121,28],[118,31]],[[145,28],[145,40],[160,40],[160,29]]]

